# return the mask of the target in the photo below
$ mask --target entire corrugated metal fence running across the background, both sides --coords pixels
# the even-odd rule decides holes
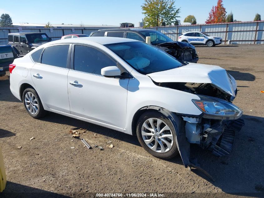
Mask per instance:
[[[112,28],[112,27],[111,27]],[[52,40],[58,40],[67,34],[90,34],[98,29],[109,29],[109,27],[82,27],[82,28],[30,28],[22,27],[22,32],[43,32],[47,33]],[[149,27],[155,29],[177,41],[182,33],[190,31],[200,31],[222,38],[222,44],[227,44],[230,40],[232,44],[264,44],[264,21],[247,21],[235,23],[199,24],[199,25],[179,25],[164,27]],[[8,33],[19,32],[19,28],[0,27],[0,45],[7,44]]]

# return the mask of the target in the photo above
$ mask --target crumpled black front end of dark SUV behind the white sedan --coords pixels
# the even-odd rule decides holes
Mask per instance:
[[[189,43],[176,41],[161,43],[157,47],[182,62],[197,63],[199,59],[195,47]]]

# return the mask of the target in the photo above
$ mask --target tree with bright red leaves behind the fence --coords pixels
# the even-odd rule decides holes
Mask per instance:
[[[223,6],[223,1],[218,0],[217,5],[213,6],[211,12],[209,13],[209,17],[206,20],[206,24],[210,23],[224,23],[226,22],[226,8]]]

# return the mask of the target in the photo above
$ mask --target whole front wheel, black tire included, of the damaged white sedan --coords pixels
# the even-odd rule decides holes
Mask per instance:
[[[157,119],[157,121],[159,120],[159,123],[161,123],[161,124],[159,124],[159,127],[157,127],[156,119]],[[153,127],[151,127],[152,125],[149,122],[151,120],[154,121],[153,122],[154,127],[156,127],[156,129],[159,128],[158,131],[156,130],[155,133],[152,133],[151,130],[148,130],[145,127],[145,126],[147,126],[149,129],[153,130]],[[155,126],[155,123],[156,123],[156,126]],[[144,126],[143,126],[143,124],[144,124]],[[169,127],[170,130],[163,130],[163,132],[162,132],[161,129],[163,129],[165,126],[166,126],[166,129],[168,129],[167,127]],[[175,127],[175,128],[177,129],[177,127]],[[146,134],[145,132],[149,135],[143,135],[143,134]],[[162,132],[163,138],[162,138],[162,136],[158,135],[159,132]],[[167,138],[167,137],[164,138],[165,135],[167,135],[167,137],[170,137],[170,138]],[[156,139],[156,137],[158,137],[158,138]],[[160,112],[148,111],[148,112],[143,113],[140,116],[140,118],[137,121],[137,139],[138,139],[140,145],[149,154],[151,154],[157,158],[171,159],[171,158],[173,158],[179,154],[177,144],[176,144],[176,131],[172,125],[172,122],[167,117],[165,117],[163,114],[161,114]],[[151,139],[153,139],[153,140],[151,141]],[[148,141],[148,140],[149,140],[149,144],[147,145],[147,143],[145,141]],[[169,144],[164,143],[164,141],[162,141],[162,140],[166,140],[167,143],[169,143]],[[160,143],[163,144],[163,150],[162,150],[162,146]],[[156,144],[157,144],[157,146],[155,147]],[[171,148],[169,148],[168,145],[170,145]]]

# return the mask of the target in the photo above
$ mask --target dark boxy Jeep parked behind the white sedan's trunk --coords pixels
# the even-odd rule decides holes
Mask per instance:
[[[46,33],[22,32],[8,34],[8,44],[14,46],[21,55],[26,55],[38,46],[50,42]]]

